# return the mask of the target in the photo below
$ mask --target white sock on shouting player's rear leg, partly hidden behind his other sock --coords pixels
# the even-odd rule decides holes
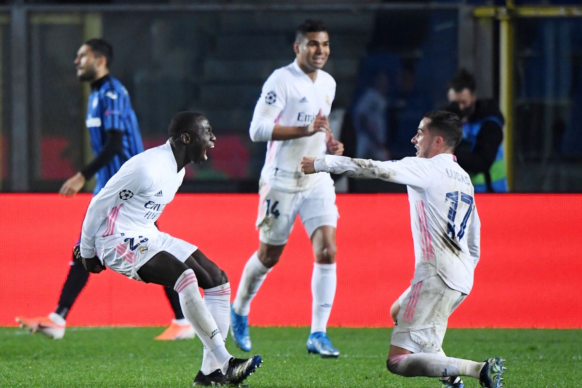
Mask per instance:
[[[204,303],[217,323],[222,339],[226,342],[230,326],[230,283],[204,290]],[[200,371],[208,375],[221,367],[222,363],[218,362],[216,357],[204,346]]]

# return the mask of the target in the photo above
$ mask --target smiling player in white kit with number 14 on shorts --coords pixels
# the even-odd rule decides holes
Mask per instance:
[[[244,266],[232,304],[230,330],[237,346],[249,351],[250,302],[279,261],[299,213],[315,256],[307,351],[338,357],[339,351],[325,333],[336,289],[335,188],[329,175],[305,176],[299,168],[306,153],[343,154],[343,144],[333,138],[327,118],[335,80],[321,70],[329,55],[325,24],[306,20],[296,31],[293,49],[296,60],[265,81],[250,124],[251,139],[267,141],[256,224],[260,245]]]

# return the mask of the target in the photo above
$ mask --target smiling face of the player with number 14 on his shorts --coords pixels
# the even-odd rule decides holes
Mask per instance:
[[[297,64],[306,73],[324,67],[329,56],[329,35],[325,31],[307,33],[299,42],[294,44]]]

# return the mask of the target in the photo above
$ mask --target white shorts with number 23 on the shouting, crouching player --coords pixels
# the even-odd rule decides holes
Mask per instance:
[[[157,229],[116,237],[107,241],[107,247],[97,247],[101,262],[115,272],[139,281],[142,280],[137,271],[158,252],[166,251],[184,262],[198,249],[196,245]]]

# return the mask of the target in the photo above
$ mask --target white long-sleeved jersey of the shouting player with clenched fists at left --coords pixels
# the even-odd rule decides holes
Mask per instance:
[[[94,257],[116,238],[148,230],[169,204],[184,179],[169,140],[125,162],[93,197],[81,232],[81,256]]]

